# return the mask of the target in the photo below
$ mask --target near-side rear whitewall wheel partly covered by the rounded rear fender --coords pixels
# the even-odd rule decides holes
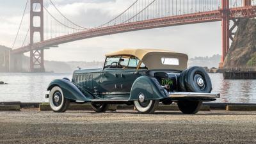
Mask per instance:
[[[140,93],[139,100],[134,101],[134,106],[138,113],[154,113],[159,104],[159,100],[145,100],[145,95]]]

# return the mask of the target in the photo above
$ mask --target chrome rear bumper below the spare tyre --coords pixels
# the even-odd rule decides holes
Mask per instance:
[[[181,97],[191,97],[191,98],[220,98],[220,93],[194,93],[194,92],[170,92],[169,97],[171,98],[181,98]]]

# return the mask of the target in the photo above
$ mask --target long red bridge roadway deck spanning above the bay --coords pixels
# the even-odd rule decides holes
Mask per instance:
[[[26,45],[18,49],[13,49],[12,54],[29,52],[31,49],[44,49],[52,47],[54,45],[64,44],[67,42],[73,42],[76,40],[82,40],[86,38],[93,38],[97,36],[112,35],[115,33],[124,33],[128,31],[138,31],[142,29],[161,28],[167,26],[178,26],[184,24],[196,24],[202,22],[220,21],[223,17],[222,10],[211,12],[199,12],[186,15],[177,15],[172,17],[163,17],[159,19],[143,20],[138,22],[129,22],[127,24],[119,24],[116,26],[107,26],[104,28],[95,28],[78,33],[60,36],[43,42],[37,42],[33,45]],[[244,6],[241,8],[230,8],[230,18],[237,19],[243,17],[255,17],[256,6]]]

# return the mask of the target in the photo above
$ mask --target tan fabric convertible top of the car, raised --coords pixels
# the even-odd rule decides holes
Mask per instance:
[[[139,58],[148,69],[175,69],[184,70],[188,67],[188,55],[167,51],[162,49],[123,49],[111,52],[105,56],[124,56],[132,55]],[[161,58],[177,58],[179,65],[163,65]]]

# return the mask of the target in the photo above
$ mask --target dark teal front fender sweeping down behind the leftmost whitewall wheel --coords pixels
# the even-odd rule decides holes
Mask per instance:
[[[90,102],[93,99],[92,94],[81,90],[81,88],[79,90],[74,83],[68,81],[67,79],[55,79],[49,84],[47,90],[50,91],[54,86],[59,86],[63,91],[63,96],[67,99],[84,102]]]

